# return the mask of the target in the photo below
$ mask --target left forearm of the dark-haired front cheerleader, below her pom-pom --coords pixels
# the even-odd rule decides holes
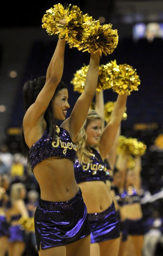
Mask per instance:
[[[65,39],[58,39],[57,46],[47,69],[46,79],[52,79],[58,83],[61,80],[64,66]]]

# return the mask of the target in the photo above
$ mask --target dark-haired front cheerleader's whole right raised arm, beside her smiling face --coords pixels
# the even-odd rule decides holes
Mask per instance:
[[[77,99],[71,116],[67,118],[62,126],[69,129],[71,138],[74,140],[80,128],[86,120],[88,110],[95,95],[99,72],[99,52],[91,54],[90,64],[87,72],[84,92]]]

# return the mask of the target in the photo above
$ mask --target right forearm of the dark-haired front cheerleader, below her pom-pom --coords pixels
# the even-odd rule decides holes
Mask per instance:
[[[99,52],[96,54],[91,54],[90,64],[86,76],[86,83],[84,92],[87,93],[87,96],[93,98],[95,95],[95,90],[97,87],[98,74],[99,74],[99,63],[100,55]]]

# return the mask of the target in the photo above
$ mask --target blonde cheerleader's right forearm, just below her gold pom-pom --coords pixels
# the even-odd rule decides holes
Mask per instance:
[[[111,114],[111,123],[119,126],[123,113],[126,107],[127,95],[118,95],[117,101],[115,103],[114,109]]]

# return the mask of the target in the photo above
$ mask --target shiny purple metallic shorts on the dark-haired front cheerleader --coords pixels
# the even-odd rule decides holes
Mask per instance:
[[[90,235],[87,207],[81,190],[65,202],[40,199],[35,212],[37,249],[73,243]]]

